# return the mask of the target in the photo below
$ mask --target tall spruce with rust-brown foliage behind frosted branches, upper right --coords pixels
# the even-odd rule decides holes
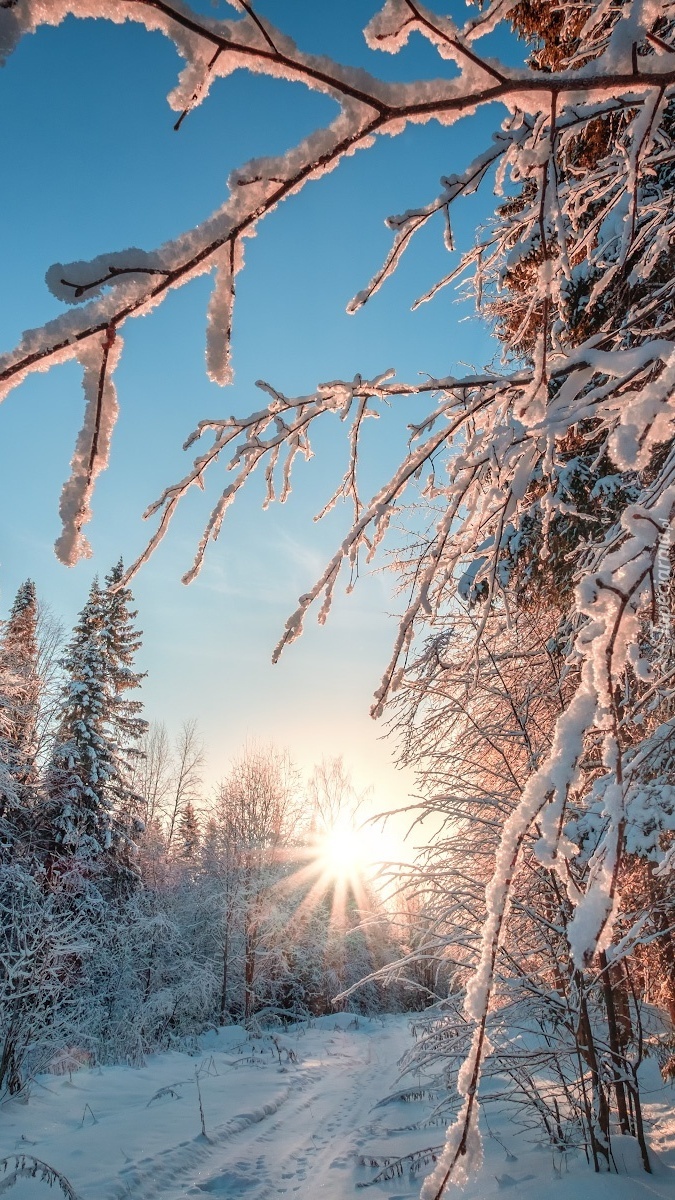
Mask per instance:
[[[620,16],[609,6],[593,16],[593,6],[560,5],[556,0],[520,0],[509,12],[514,32],[528,46],[528,62],[537,71],[578,70],[584,64],[584,28],[590,18],[597,20],[597,31],[609,38]],[[663,32],[663,30],[661,30]],[[656,26],[655,26],[656,32]],[[638,60],[638,47],[633,48]],[[653,52],[653,47],[652,47]],[[649,61],[649,43],[639,52],[643,66]],[[651,55],[650,55],[651,56]],[[663,112],[662,137],[671,138],[675,128],[673,101]],[[482,280],[488,302],[486,314],[495,322],[495,334],[506,348],[506,356],[514,362],[533,365],[542,331],[545,331],[546,353],[555,353],[560,344],[572,356],[589,340],[617,350],[640,344],[653,336],[653,329],[671,319],[671,305],[659,296],[658,316],[652,325],[653,304],[647,302],[651,289],[673,278],[675,246],[673,239],[655,238],[650,271],[637,270],[645,239],[653,222],[653,205],[669,196],[675,184],[673,158],[661,156],[645,168],[641,148],[635,156],[634,199],[639,205],[631,218],[635,226],[635,241],[619,270],[615,263],[621,238],[603,236],[596,227],[603,210],[603,198],[580,180],[601,161],[605,161],[611,178],[610,162],[625,154],[629,114],[617,107],[592,115],[584,114],[573,122],[558,145],[555,161],[556,182],[562,193],[579,187],[585,200],[574,210],[574,229],[563,236],[565,222],[531,222],[533,198],[537,196],[534,175],[527,174],[515,194],[509,194],[497,209],[490,238],[497,233],[508,238],[502,252],[491,259]],[[613,160],[613,155],[616,158]],[[628,221],[628,217],[626,217]],[[530,222],[530,223],[528,223]],[[603,224],[601,223],[601,230]],[[562,238],[562,240],[561,240]],[[575,245],[577,242],[577,245]],[[602,253],[599,250],[602,247]],[[557,301],[533,302],[537,280],[546,257],[552,262],[557,277],[563,277],[563,260],[569,258],[569,278]],[[644,310],[644,312],[641,311]],[[638,312],[626,323],[628,312]],[[608,329],[616,324],[611,340]],[[628,331],[629,329],[629,331]],[[560,343],[560,337],[563,343]],[[549,384],[549,404],[555,404],[563,377]],[[549,462],[549,443],[542,440],[542,452],[532,466],[522,511],[518,521],[507,522],[501,542],[500,581],[513,584],[513,596],[520,607],[538,610],[543,604],[549,611],[557,608],[565,617],[569,611],[579,564],[593,545],[599,545],[609,530],[621,521],[627,505],[637,503],[641,490],[649,486],[671,446],[671,439],[657,445],[652,460],[643,470],[620,469],[607,448],[605,427],[591,406],[585,419],[571,424],[565,437],[557,434],[555,451]],[[544,449],[545,445],[545,449]],[[552,503],[551,503],[552,500]],[[468,594],[470,600],[483,600],[484,583]]]

